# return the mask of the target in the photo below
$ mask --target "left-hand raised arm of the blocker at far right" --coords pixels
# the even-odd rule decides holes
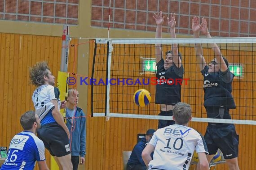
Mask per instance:
[[[192,20],[192,30],[194,33],[194,38],[199,38],[199,32],[201,29],[202,29],[202,26],[199,24],[199,17],[194,17]],[[195,54],[196,54],[196,62],[198,63],[201,71],[206,66],[201,44],[198,44],[198,43],[195,44]]]

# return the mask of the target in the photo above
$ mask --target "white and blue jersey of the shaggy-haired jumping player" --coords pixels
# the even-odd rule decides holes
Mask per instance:
[[[35,89],[32,96],[32,101],[35,106],[35,114],[38,115],[41,125],[56,122],[52,115],[54,105],[50,101],[56,99],[58,102],[57,109],[59,109],[61,106],[59,97],[59,89],[52,85],[40,85],[37,89]]]

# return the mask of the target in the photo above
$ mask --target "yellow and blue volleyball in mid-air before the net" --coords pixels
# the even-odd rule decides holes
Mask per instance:
[[[151,96],[149,91],[146,89],[138,89],[134,94],[133,94],[133,102],[137,104],[138,106],[144,107],[148,105],[151,101]]]

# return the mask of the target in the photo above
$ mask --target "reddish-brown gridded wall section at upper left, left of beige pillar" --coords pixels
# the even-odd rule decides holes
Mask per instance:
[[[77,25],[79,0],[0,0],[0,19]]]

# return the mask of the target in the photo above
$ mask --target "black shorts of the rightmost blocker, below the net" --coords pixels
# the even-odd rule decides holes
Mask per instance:
[[[221,149],[225,159],[238,157],[238,135],[234,124],[225,126],[208,125],[204,135],[209,155],[215,155]]]

